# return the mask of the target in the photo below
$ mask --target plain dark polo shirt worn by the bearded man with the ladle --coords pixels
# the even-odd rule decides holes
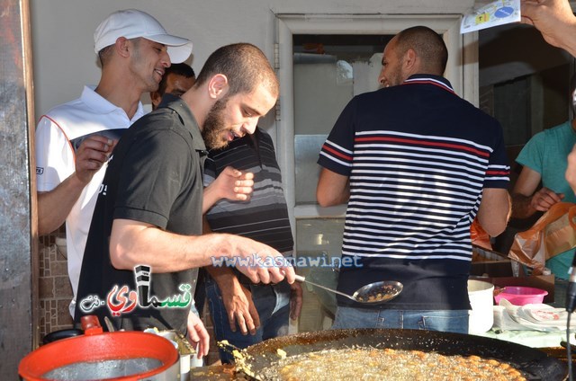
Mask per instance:
[[[121,295],[112,295],[117,297],[112,299],[112,304],[107,301],[114,286],[120,289],[126,285],[134,291],[138,288],[134,271],[112,267],[108,243],[115,218],[145,222],[179,235],[201,235],[205,153],[192,112],[182,100],[172,96],[165,97],[157,111],[137,120],[121,137],[94,209],[76,298],[76,322],[82,315],[95,314],[101,324],[103,317],[108,316],[116,329],[143,330],[155,326],[185,332],[190,306],[167,302],[175,297],[180,297],[178,300],[187,297],[182,285],[184,289],[185,285],[192,286],[193,295],[196,271],[160,274],[152,268],[148,299],[156,297],[157,301],[166,303],[147,307],[139,304],[127,311],[128,300],[126,306],[118,310]],[[161,257],[165,253],[160,251],[157,255]],[[88,313],[86,298],[94,300],[94,296],[103,301],[103,305]],[[129,293],[123,295],[129,296]],[[118,311],[120,314],[114,315]]]

